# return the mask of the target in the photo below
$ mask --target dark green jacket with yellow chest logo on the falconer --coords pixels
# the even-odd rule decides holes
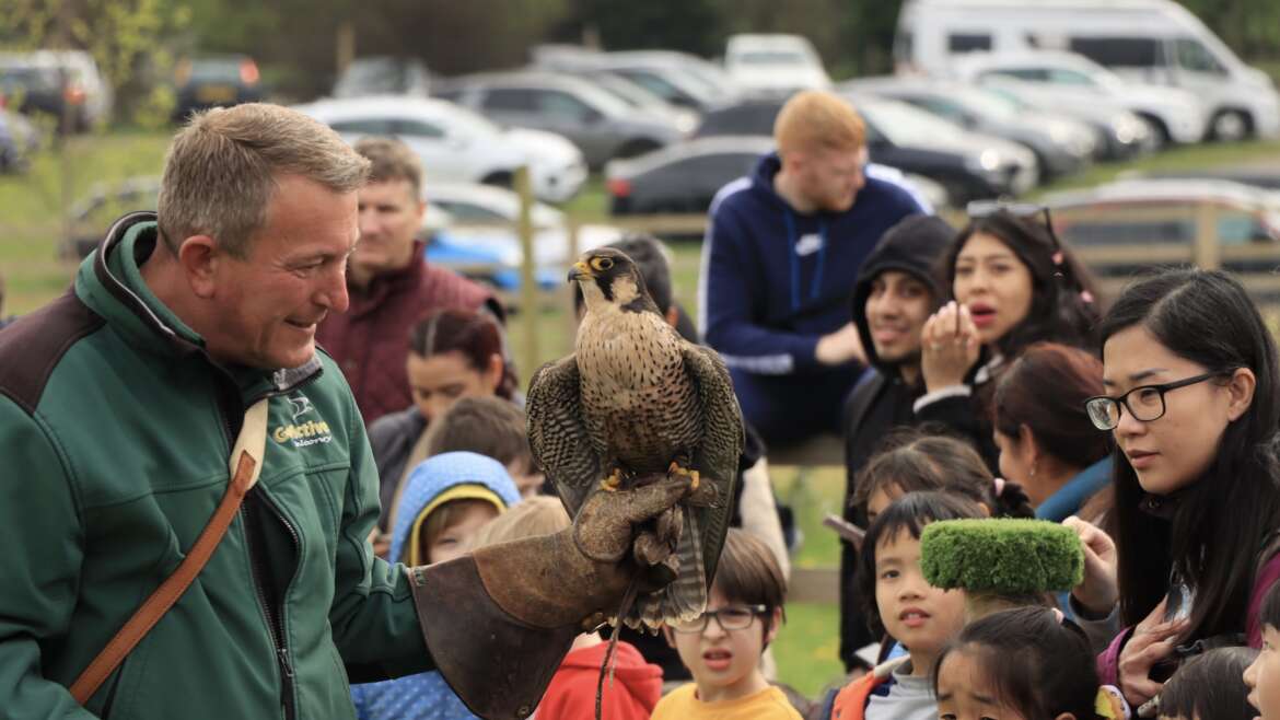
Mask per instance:
[[[365,542],[378,478],[333,361],[223,368],[142,282],[152,214],[0,333],[0,716],[352,717],[348,674],[433,661],[403,568]],[[65,689],[173,573],[270,397],[257,486],[182,600],[79,708]]]

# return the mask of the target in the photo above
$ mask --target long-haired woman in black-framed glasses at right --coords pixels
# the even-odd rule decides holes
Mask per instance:
[[[1076,523],[1087,571],[1073,605],[1132,628],[1098,667],[1138,707],[1181,657],[1261,643],[1257,611],[1280,577],[1276,347],[1240,283],[1204,270],[1130,286],[1100,337],[1105,391],[1085,407],[1115,441],[1115,546]]]

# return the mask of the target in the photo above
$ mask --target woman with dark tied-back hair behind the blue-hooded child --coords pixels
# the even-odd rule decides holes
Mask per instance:
[[[425,315],[410,329],[408,346],[404,368],[396,372],[408,374],[413,406],[384,415],[369,428],[381,483],[378,527],[384,534],[396,506],[396,489],[428,457],[428,424],[463,397],[512,400],[517,388],[503,360],[498,325],[488,314],[451,309]],[[376,538],[375,550],[384,551],[384,536]]]

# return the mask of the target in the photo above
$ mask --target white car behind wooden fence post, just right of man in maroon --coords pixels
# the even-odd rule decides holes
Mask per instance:
[[[439,209],[452,220],[449,232],[454,238],[480,238],[484,245],[499,247],[506,258],[515,258],[520,266],[520,196],[509,190],[474,183],[433,183],[424,188],[428,217]],[[534,261],[539,268],[556,272],[567,269],[576,259],[570,249],[568,219],[564,213],[535,202],[530,208],[534,225]],[[609,225],[584,224],[577,227],[576,251],[594,250],[622,237],[622,231]],[[511,249],[515,252],[511,252]],[[563,279],[561,273],[559,279]]]

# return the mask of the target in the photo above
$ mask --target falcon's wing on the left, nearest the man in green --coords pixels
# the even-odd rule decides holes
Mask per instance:
[[[534,373],[525,401],[529,446],[538,466],[556,487],[570,518],[602,479],[600,459],[582,419],[577,361],[573,355]]]

